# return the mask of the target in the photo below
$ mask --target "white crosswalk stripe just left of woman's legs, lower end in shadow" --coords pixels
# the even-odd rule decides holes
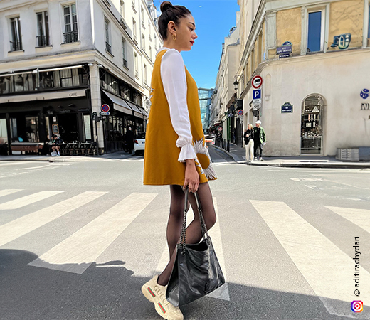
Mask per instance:
[[[132,193],[28,265],[83,274],[157,193]]]

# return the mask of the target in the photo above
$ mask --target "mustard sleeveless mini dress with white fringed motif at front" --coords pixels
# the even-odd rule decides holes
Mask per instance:
[[[176,140],[179,136],[172,127],[169,103],[161,78],[162,57],[166,51],[162,50],[157,54],[152,73],[151,106],[145,137],[144,185],[183,186],[186,163],[178,161],[181,148],[176,146]],[[186,68],[185,71],[192,144],[197,156],[196,169],[199,173],[199,182],[205,183],[217,177],[204,141],[198,87]]]

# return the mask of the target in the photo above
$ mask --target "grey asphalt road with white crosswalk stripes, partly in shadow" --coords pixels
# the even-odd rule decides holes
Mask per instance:
[[[185,319],[370,319],[370,170],[211,156],[226,284]],[[0,162],[1,320],[161,319],[140,288],[166,265],[169,187],[142,186],[143,164]]]

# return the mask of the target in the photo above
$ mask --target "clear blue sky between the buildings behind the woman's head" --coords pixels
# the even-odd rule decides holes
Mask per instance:
[[[161,3],[154,0],[158,11]],[[174,0],[171,4],[186,6],[196,23],[198,38],[193,48],[189,52],[181,52],[186,68],[198,87],[215,87],[222,43],[228,31],[236,26],[237,0]]]

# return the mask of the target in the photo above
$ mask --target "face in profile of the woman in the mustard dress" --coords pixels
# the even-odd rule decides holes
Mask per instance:
[[[185,16],[179,19],[179,25],[173,26],[172,33],[169,33],[169,37],[172,38],[172,34],[176,34],[177,38],[174,43],[179,51],[190,51],[194,45],[194,41],[198,36],[195,33],[195,21],[193,16]]]

